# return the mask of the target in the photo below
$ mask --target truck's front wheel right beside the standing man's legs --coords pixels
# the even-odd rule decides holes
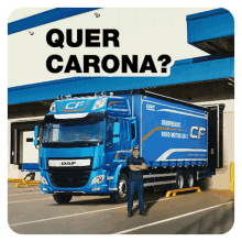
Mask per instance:
[[[118,182],[118,193],[110,195],[113,204],[121,204],[128,201],[129,196],[129,179],[125,174],[121,173]]]

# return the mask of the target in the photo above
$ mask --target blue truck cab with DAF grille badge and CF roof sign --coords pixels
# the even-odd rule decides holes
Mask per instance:
[[[125,160],[139,145],[136,118],[128,98],[114,96],[59,97],[44,119],[40,141],[41,191],[57,202],[78,195],[110,195],[127,200]],[[119,193],[118,193],[118,189]]]

